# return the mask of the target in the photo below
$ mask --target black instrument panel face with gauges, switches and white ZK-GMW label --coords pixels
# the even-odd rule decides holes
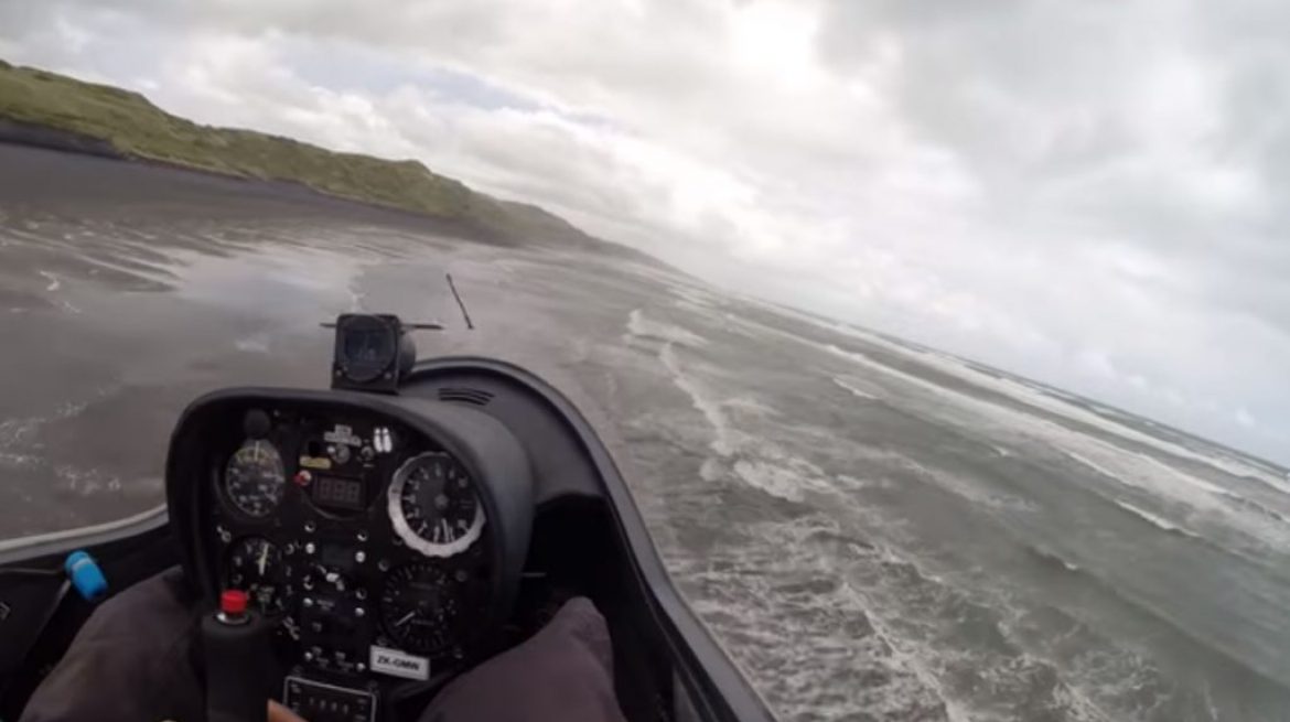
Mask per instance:
[[[210,463],[221,584],[280,620],[293,673],[344,683],[450,670],[491,594],[479,480],[374,414],[257,413],[267,432]]]

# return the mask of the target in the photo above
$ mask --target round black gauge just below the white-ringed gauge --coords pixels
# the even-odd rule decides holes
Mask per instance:
[[[422,562],[396,569],[381,593],[381,621],[399,647],[432,654],[454,638],[458,585],[436,566]]]

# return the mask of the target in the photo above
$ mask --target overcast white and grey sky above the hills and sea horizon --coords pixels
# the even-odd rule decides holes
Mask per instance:
[[[1290,462],[1284,3],[0,0],[0,58]]]

